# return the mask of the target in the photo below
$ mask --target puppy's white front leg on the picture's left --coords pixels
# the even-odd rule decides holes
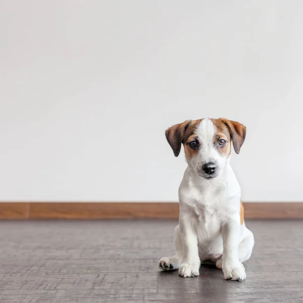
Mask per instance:
[[[180,215],[180,235],[183,246],[183,257],[179,266],[181,277],[196,277],[199,275],[200,259],[198,254],[198,239],[192,218]]]

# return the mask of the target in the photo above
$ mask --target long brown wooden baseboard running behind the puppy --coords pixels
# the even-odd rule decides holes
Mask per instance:
[[[303,203],[244,203],[245,219],[303,219]],[[177,219],[178,203],[0,203],[0,219]]]

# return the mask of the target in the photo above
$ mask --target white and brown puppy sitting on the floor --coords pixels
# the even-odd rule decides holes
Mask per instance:
[[[231,143],[239,154],[246,127],[227,119],[188,120],[166,130],[176,157],[184,146],[188,166],[179,187],[176,255],[159,261],[163,270],[179,269],[182,277],[199,275],[201,262],[213,262],[224,278],[246,278],[242,262],[254,247],[244,223],[241,190],[229,164]]]

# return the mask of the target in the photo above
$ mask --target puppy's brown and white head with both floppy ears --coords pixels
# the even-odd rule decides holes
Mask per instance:
[[[224,118],[187,120],[170,127],[165,134],[176,157],[183,144],[189,166],[198,176],[213,179],[223,172],[231,143],[239,154],[246,127]]]

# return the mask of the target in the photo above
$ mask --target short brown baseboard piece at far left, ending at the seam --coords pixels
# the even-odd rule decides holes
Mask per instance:
[[[29,203],[0,203],[0,219],[28,219]]]

